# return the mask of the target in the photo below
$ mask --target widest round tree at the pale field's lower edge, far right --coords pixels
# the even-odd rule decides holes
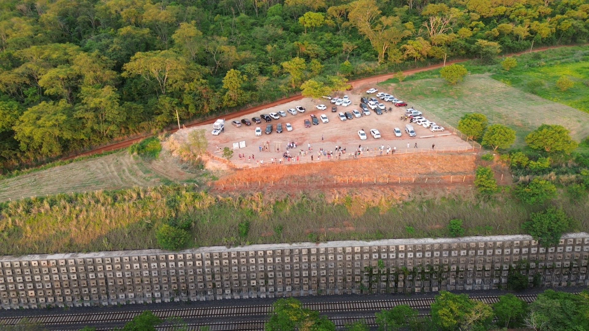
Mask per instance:
[[[569,135],[570,131],[562,125],[542,124],[537,130],[525,136],[525,143],[535,150],[571,153],[578,143]]]

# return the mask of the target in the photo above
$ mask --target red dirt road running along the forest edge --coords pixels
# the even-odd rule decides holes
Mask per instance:
[[[551,48],[575,47],[575,46],[579,46],[579,45],[560,45],[560,46],[540,47],[540,48],[532,49],[531,52],[540,52],[540,51],[545,51],[545,50],[551,49]],[[512,54],[506,54],[506,55],[501,55],[498,58],[512,56],[512,55],[519,55],[519,54],[524,54],[524,53],[528,53],[528,52],[530,52],[530,51],[522,51],[522,52],[517,52],[517,53],[512,53]],[[454,59],[452,61],[446,61],[446,64],[448,64],[448,65],[455,64],[455,63],[459,63],[459,62],[465,62],[468,60],[469,59]],[[405,70],[405,71],[403,71],[403,74],[410,75],[410,74],[415,74],[416,72],[428,71],[431,69],[441,68],[443,66],[444,66],[444,63],[428,65],[426,67]],[[389,74],[381,74],[381,75],[375,75],[375,76],[371,76],[371,77],[361,78],[359,80],[349,81],[349,83],[355,84],[355,85],[376,83],[376,82],[388,80],[389,78],[393,78],[393,75],[395,75],[395,72],[391,72]],[[276,100],[276,101],[270,102],[268,104],[257,105],[256,107],[250,107],[250,108],[246,108],[243,110],[230,112],[229,114],[217,115],[216,117],[212,117],[207,120],[201,120],[201,121],[185,124],[184,126],[189,128],[189,127],[195,127],[197,125],[212,124],[216,120],[218,120],[219,118],[239,117],[240,115],[249,114],[250,112],[263,110],[265,108],[270,108],[270,107],[274,107],[276,105],[285,104],[286,102],[290,102],[290,101],[300,100],[302,98],[303,98],[303,96],[300,95],[300,93],[299,93],[299,94],[293,95],[292,97]],[[171,130],[166,130],[166,132],[168,132],[168,133],[174,133],[176,131],[178,131],[177,128],[171,129]],[[118,143],[98,147],[98,148],[95,148],[94,150],[85,151],[83,153],[79,153],[79,154],[75,154],[75,155],[70,155],[68,157],[61,158],[60,160],[70,160],[71,158],[75,158],[75,157],[92,155],[92,154],[99,154],[99,153],[104,153],[106,151],[111,151],[111,150],[118,150],[120,148],[129,147],[130,145],[137,143],[138,141],[141,141],[141,140],[143,140],[147,137],[151,137],[151,136],[152,136],[151,134],[141,135],[140,137],[130,138],[128,140],[120,141]]]

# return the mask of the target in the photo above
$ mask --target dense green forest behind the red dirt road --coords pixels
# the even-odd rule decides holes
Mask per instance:
[[[0,2],[0,167],[274,100],[310,78],[587,42],[583,0]]]

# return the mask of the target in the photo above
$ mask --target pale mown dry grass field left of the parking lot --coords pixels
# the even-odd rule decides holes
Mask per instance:
[[[194,177],[194,174],[178,168],[170,158],[145,161],[121,151],[2,180],[0,201],[46,194],[148,187]]]

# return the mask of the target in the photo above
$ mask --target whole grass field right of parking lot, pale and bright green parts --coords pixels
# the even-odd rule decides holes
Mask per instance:
[[[463,62],[469,75],[454,87],[439,78],[439,69],[409,75],[400,84],[391,79],[378,85],[454,127],[465,112],[481,112],[489,123],[505,124],[517,132],[515,148],[524,147],[525,135],[543,123],[568,128],[577,141],[587,137],[589,46],[548,49],[515,59],[518,65],[510,71],[501,67],[501,59],[491,65]],[[555,87],[562,76],[574,81],[567,91]],[[532,80],[542,80],[544,87],[530,90]],[[582,144],[578,151],[586,149]]]

